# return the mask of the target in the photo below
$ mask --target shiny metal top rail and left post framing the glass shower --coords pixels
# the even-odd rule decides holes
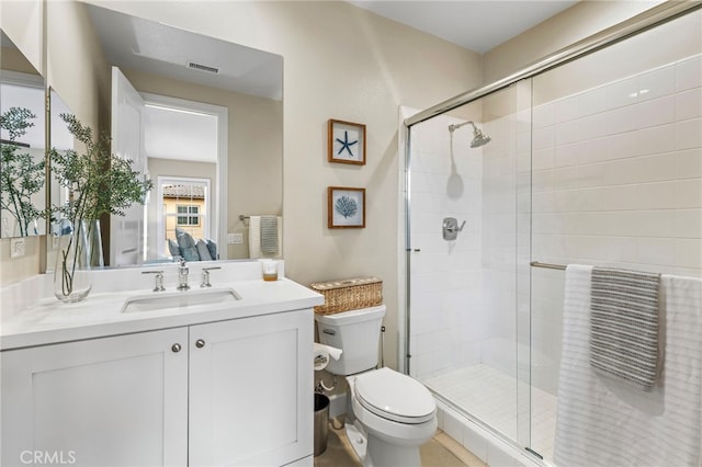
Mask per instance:
[[[650,29],[684,16],[686,14],[692,13],[700,9],[702,9],[702,0],[667,0],[664,3],[660,3],[649,10],[632,16],[626,21],[602,30],[599,33],[592,34],[581,41],[578,41],[567,47],[550,54],[546,57],[525,66],[524,68],[512,75],[492,81],[486,86],[466,91],[454,98],[448,99],[446,101],[440,102],[439,104],[435,104],[429,109],[424,109],[423,111],[420,111],[403,121],[403,134],[405,136],[405,335],[401,339],[401,344],[404,345],[404,357],[403,361],[399,362],[399,366],[404,371],[404,373],[409,374],[411,357],[409,352],[411,274],[409,274],[409,270],[411,265],[411,253],[412,251],[418,251],[412,249],[410,235],[411,133],[409,132],[409,129],[418,123],[448,113],[460,106],[477,101],[495,92],[501,91],[519,81],[533,78],[551,69],[574,61],[578,58],[585,57],[611,45],[618,44],[630,37],[636,36]],[[561,265],[542,264],[543,263],[537,262],[531,263],[532,266],[557,266],[557,269],[561,269]],[[510,442],[510,444],[514,442],[513,440],[508,441]]]

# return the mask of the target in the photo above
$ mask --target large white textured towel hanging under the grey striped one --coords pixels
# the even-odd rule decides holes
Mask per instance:
[[[702,280],[661,276],[663,374],[644,392],[589,364],[591,270],[566,270],[555,464],[702,466]]]

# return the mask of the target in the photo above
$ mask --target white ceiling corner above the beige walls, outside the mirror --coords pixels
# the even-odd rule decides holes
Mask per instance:
[[[356,7],[484,54],[577,0],[350,0]]]

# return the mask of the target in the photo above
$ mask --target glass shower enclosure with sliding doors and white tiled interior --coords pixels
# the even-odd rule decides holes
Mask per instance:
[[[702,13],[649,26],[407,128],[405,367],[534,458],[553,459],[562,266],[702,276]]]

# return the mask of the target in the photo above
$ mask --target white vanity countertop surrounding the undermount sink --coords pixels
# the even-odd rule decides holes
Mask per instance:
[[[125,300],[131,297],[154,296],[158,299],[158,294],[173,295],[173,291],[133,288],[98,292],[77,304],[63,304],[54,297],[46,297],[2,317],[0,350],[270,315],[324,304],[321,295],[284,277],[274,282],[261,278],[219,282],[207,291],[222,289],[234,289],[240,299],[186,308],[122,312]],[[199,293],[202,293],[201,289],[193,287],[178,294]]]

